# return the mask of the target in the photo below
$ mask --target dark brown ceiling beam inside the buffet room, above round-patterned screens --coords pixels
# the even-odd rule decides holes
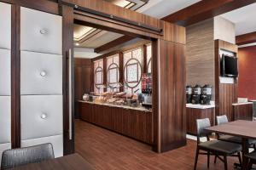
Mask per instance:
[[[101,53],[102,51],[106,51],[110,48],[114,48],[122,43],[125,43],[125,42],[129,42],[131,41],[132,39],[134,39],[135,37],[131,37],[131,36],[122,36],[122,37],[119,37],[118,39],[115,39],[113,40],[112,42],[108,42],[98,48],[95,48],[94,49],[94,52],[95,53]]]

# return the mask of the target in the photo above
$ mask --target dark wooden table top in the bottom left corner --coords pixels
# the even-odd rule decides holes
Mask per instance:
[[[94,170],[90,163],[79,154],[63,156],[49,161],[31,163],[25,166],[15,167],[11,170]]]

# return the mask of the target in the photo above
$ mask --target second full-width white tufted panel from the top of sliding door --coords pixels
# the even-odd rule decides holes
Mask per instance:
[[[62,94],[62,56],[21,51],[20,94]]]

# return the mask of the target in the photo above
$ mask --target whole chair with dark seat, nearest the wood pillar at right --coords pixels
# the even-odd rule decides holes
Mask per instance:
[[[220,141],[220,140],[210,140],[209,133],[205,130],[207,127],[211,127],[210,120],[206,119],[197,119],[196,120],[197,126],[197,147],[196,147],[196,154],[195,154],[195,167],[197,167],[197,161],[199,155],[207,155],[207,167],[210,164],[210,156],[218,156],[218,158],[224,162],[224,169],[228,169],[228,161],[227,156],[236,156],[238,157],[241,163],[241,144],[234,144],[230,142]],[[207,137],[207,142],[201,143],[201,137]],[[200,151],[205,152],[200,152]],[[223,156],[224,158],[220,157]]]

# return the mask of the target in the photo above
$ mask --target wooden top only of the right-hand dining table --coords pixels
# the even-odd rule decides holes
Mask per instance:
[[[241,120],[207,128],[210,132],[230,134],[245,139],[256,139],[255,129],[256,122]]]

